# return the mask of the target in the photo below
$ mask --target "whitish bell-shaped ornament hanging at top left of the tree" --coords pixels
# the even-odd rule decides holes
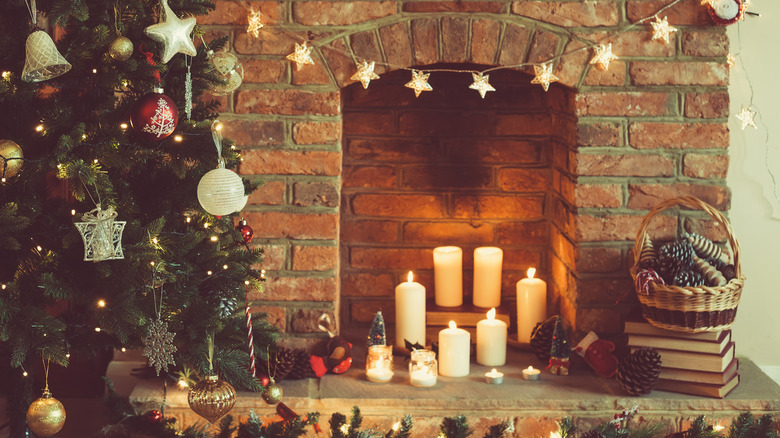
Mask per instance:
[[[32,25],[38,25],[38,10],[35,0],[27,0]],[[22,69],[22,80],[25,82],[42,82],[56,78],[70,71],[71,65],[57,50],[54,40],[42,30],[33,31],[27,37],[25,44],[26,56]]]

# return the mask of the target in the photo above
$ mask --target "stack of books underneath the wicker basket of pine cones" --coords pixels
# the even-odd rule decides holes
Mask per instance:
[[[731,330],[684,333],[626,321],[625,332],[632,352],[653,347],[661,354],[657,390],[723,398],[739,384]]]

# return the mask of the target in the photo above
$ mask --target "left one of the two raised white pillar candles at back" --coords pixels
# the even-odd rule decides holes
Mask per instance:
[[[433,250],[433,278],[436,305],[458,307],[463,304],[463,250],[440,246]]]

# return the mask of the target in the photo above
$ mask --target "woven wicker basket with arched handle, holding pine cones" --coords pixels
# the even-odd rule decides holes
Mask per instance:
[[[680,287],[652,282],[649,293],[637,290],[639,302],[642,304],[642,315],[656,327],[681,332],[698,333],[729,328],[737,314],[745,278],[742,276],[739,243],[734,237],[734,230],[726,218],[711,205],[690,196],[669,199],[656,205],[647,213],[639,227],[634,245],[634,263],[639,261],[650,220],[662,211],[677,206],[703,210],[725,228],[734,256],[736,276],[724,286],[718,287]],[[631,269],[634,280],[637,269],[636,265]]]

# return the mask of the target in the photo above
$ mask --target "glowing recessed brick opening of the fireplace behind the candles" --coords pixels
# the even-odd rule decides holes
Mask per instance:
[[[464,303],[474,249],[498,246],[502,304],[514,305],[515,283],[535,267],[548,308],[561,307],[575,275],[575,92],[560,84],[545,92],[520,71],[489,74],[496,91],[484,99],[463,72],[433,72],[433,90],[419,98],[404,87],[408,70],[342,90],[343,325],[380,309],[393,322],[394,287],[408,271],[432,298],[433,248],[448,245],[463,248]]]

